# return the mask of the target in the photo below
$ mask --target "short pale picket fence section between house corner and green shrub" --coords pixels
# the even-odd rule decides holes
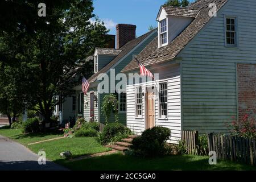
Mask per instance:
[[[198,131],[182,131],[181,140],[184,141],[188,154],[196,154],[196,146],[199,142]]]

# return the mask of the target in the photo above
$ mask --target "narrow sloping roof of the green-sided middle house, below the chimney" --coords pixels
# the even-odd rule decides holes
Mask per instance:
[[[104,68],[102,68],[100,71],[98,71],[97,73],[94,73],[94,75],[92,75],[88,81],[89,82],[94,82],[97,80],[98,75],[100,75],[100,73],[105,73],[107,72],[110,68],[113,67],[113,65],[115,63],[117,63],[119,60],[122,59],[122,57],[124,57],[125,55],[127,55],[127,53],[129,53],[134,47],[136,47],[139,43],[141,43],[144,39],[147,38],[148,35],[150,35],[152,32],[156,31],[156,29],[147,32],[146,34],[139,36],[136,39],[133,39],[129,42],[127,42],[125,45],[123,45],[121,48],[119,48],[119,50],[122,50],[119,55],[117,57],[115,57],[112,61],[110,61],[109,64],[107,64]]]

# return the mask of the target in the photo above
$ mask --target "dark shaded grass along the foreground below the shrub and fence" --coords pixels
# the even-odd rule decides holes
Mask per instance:
[[[143,159],[136,156],[112,154],[65,163],[65,166],[72,170],[89,171],[256,170],[256,167],[224,160],[218,160],[216,165],[209,165],[208,159],[208,156],[195,155],[170,155],[153,159]]]

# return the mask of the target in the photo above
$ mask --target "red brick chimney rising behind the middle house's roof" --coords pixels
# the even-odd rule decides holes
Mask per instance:
[[[133,24],[117,24],[117,49],[136,38],[136,26]]]

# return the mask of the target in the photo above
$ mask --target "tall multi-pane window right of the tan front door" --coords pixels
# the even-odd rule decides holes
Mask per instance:
[[[159,110],[160,117],[167,117],[167,83],[163,82],[159,84]]]

